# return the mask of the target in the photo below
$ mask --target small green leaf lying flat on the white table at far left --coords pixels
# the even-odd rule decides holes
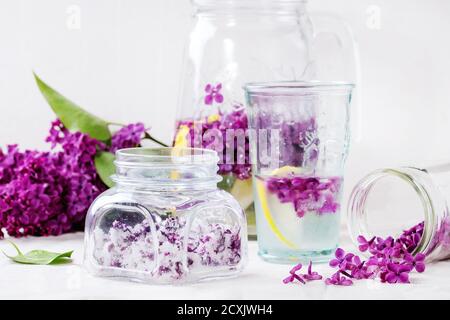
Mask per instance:
[[[72,256],[73,253],[73,250],[64,253],[50,252],[46,250],[32,250],[30,252],[27,252],[26,254],[23,254],[14,242],[12,241],[8,242],[11,243],[11,245],[16,249],[17,255],[12,257],[8,256],[5,252],[3,252],[3,254],[17,263],[23,264],[66,263],[71,261],[70,257]]]

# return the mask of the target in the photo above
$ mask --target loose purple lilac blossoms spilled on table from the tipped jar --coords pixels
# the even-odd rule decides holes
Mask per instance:
[[[325,279],[325,283],[349,286],[353,284],[354,280],[361,279],[379,279],[381,282],[391,284],[409,283],[409,274],[412,271],[415,270],[419,273],[425,271],[425,255],[422,253],[412,255],[420,242],[423,229],[424,223],[421,222],[411,229],[405,230],[397,239],[373,237],[367,240],[363,236],[359,236],[359,250],[370,252],[369,259],[363,261],[353,253],[346,253],[341,248],[336,249],[335,258],[329,262],[329,265],[337,268],[337,271]],[[294,277],[292,273],[294,269],[291,270],[290,277]],[[288,281],[288,279],[290,278],[284,279],[283,282],[293,281]]]

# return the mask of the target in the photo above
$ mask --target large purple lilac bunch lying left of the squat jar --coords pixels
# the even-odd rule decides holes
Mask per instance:
[[[120,139],[113,136],[111,148],[135,139],[119,134]],[[6,153],[0,149],[0,238],[5,231],[22,237],[81,230],[90,204],[106,189],[94,157],[108,146],[69,132],[59,120],[52,123],[46,141],[51,152],[21,152],[17,145],[9,145]]]

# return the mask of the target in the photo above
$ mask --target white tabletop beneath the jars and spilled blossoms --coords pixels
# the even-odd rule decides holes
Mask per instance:
[[[249,243],[249,264],[237,278],[184,286],[155,286],[96,278],[83,267],[83,234],[14,240],[22,251],[75,250],[66,265],[22,265],[0,257],[0,299],[450,299],[450,261],[427,266],[412,274],[411,284],[388,285],[373,280],[355,281],[352,287],[326,286],[322,281],[307,285],[284,285],[289,266],[263,262],[257,244]],[[342,247],[353,249],[348,239]],[[6,241],[0,249],[13,253]],[[327,265],[317,271],[329,275]]]

